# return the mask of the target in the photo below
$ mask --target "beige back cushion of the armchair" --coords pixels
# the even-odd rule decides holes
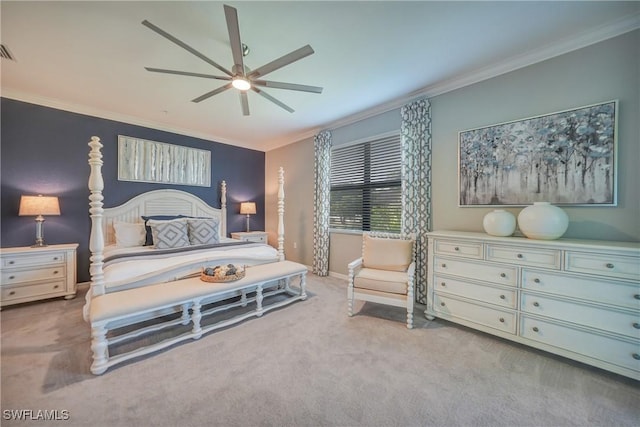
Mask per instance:
[[[406,271],[412,255],[413,240],[364,235],[362,264],[366,268]]]

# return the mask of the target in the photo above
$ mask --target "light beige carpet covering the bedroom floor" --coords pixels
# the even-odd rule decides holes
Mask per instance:
[[[2,426],[638,426],[638,382],[416,309],[359,302],[309,276],[310,297],[89,373],[84,295],[5,308]],[[7,410],[66,410],[15,421]]]

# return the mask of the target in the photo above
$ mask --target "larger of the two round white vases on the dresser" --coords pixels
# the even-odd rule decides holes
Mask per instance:
[[[549,202],[534,202],[518,215],[520,231],[530,239],[554,240],[560,238],[567,227],[566,212]]]

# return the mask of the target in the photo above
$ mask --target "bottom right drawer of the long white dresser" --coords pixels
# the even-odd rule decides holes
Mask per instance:
[[[640,372],[640,343],[559,325],[526,315],[520,319],[520,335]]]

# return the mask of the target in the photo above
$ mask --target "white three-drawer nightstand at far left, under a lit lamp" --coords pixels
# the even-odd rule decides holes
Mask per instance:
[[[0,249],[0,305],[76,295],[77,243]]]

